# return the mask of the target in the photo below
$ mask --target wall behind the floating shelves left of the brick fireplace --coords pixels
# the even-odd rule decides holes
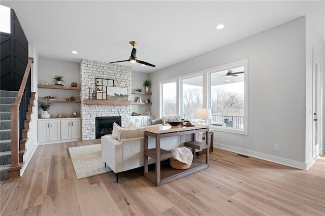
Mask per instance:
[[[64,86],[71,86],[75,82],[80,86],[80,64],[78,62],[63,61],[52,58],[39,58],[39,77],[38,80],[48,81],[50,85],[54,85],[53,78],[55,76],[63,76]],[[55,96],[57,99],[65,99],[75,97],[80,99],[80,91],[71,90],[55,90],[55,89],[39,89],[38,97],[44,99],[44,96]],[[56,114],[69,115],[76,111],[80,113],[79,103],[52,103],[50,106],[49,114],[51,118]],[[42,110],[39,109],[38,114],[41,118]]]

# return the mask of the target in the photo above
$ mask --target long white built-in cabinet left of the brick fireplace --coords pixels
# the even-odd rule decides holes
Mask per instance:
[[[38,142],[81,139],[81,118],[38,119]]]

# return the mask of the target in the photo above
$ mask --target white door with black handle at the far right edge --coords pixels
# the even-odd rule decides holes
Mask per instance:
[[[313,55],[313,115],[312,115],[312,153],[316,159],[321,153],[321,116],[320,116],[320,64],[316,55]]]

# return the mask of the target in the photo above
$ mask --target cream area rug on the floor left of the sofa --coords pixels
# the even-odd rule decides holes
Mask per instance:
[[[77,179],[112,171],[102,160],[101,144],[69,148]]]

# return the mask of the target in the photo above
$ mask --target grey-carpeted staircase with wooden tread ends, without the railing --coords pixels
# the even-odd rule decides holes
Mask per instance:
[[[0,91],[0,181],[8,179],[11,166],[11,104],[15,103],[18,91]],[[27,132],[29,131],[30,115],[34,106],[35,93],[31,93],[28,112],[22,130],[22,139],[19,149],[19,163],[23,163]],[[16,176],[17,177],[17,176]],[[19,176],[18,176],[19,177]]]

